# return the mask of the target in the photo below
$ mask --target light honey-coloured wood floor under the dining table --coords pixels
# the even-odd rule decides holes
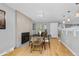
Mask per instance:
[[[42,51],[30,52],[29,46],[16,48],[5,56],[73,56],[73,54],[58,39],[51,39],[50,48]]]

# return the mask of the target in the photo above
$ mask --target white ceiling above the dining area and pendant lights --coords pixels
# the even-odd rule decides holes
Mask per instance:
[[[68,16],[68,10],[71,11],[70,17],[74,20],[78,9],[75,3],[7,3],[7,5],[36,22],[62,22],[63,15]]]

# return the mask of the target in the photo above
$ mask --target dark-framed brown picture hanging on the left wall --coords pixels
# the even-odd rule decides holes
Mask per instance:
[[[5,11],[0,10],[0,29],[6,28],[5,14]]]

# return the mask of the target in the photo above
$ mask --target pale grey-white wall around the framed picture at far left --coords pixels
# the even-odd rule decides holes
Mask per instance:
[[[6,11],[6,29],[0,29],[0,54],[15,47],[15,10],[0,4],[0,9]]]

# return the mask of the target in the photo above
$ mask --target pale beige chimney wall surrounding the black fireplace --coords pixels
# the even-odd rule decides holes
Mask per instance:
[[[21,34],[23,32],[32,33],[32,20],[31,18],[25,16],[24,14],[16,11],[17,20],[17,47],[21,46]]]

